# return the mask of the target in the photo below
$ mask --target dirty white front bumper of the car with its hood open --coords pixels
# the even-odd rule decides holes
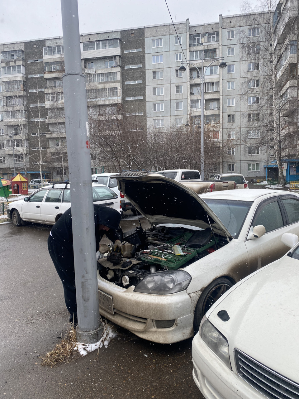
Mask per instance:
[[[140,338],[160,344],[172,344],[193,336],[193,306],[186,291],[169,295],[134,292],[134,286],[122,288],[98,275],[98,289],[113,298],[114,314],[100,308],[108,320]],[[156,328],[153,320],[175,320],[171,328]]]

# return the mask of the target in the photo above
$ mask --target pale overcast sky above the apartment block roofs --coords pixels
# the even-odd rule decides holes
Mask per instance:
[[[257,0],[252,0],[255,5]],[[240,14],[240,1],[168,0],[174,21],[203,24],[218,14]],[[80,33],[90,33],[171,22],[165,0],[78,0]],[[62,36],[60,0],[1,2],[0,43]]]

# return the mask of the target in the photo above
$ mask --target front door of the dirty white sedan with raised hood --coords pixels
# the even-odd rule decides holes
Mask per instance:
[[[257,225],[263,225],[266,233],[260,238],[250,239],[252,229]],[[257,207],[245,241],[249,273],[279,259],[288,251],[288,247],[281,242],[281,236],[289,231],[285,213],[277,197],[263,201]]]

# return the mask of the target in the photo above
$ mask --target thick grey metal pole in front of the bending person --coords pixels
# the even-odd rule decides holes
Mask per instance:
[[[79,342],[100,340],[87,98],[82,74],[77,0],[61,0],[65,73],[63,93],[71,187]]]

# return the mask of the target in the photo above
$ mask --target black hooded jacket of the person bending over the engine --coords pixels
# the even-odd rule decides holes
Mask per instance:
[[[96,251],[99,248],[99,242],[104,234],[113,243],[118,240],[116,230],[120,223],[120,213],[116,209],[108,208],[102,205],[93,205],[94,208],[94,227],[96,239]],[[109,231],[98,230],[98,225],[104,225],[110,228]],[[72,210],[69,208],[55,223],[50,234],[53,239],[59,242],[65,249],[73,251],[73,229],[72,229]]]

